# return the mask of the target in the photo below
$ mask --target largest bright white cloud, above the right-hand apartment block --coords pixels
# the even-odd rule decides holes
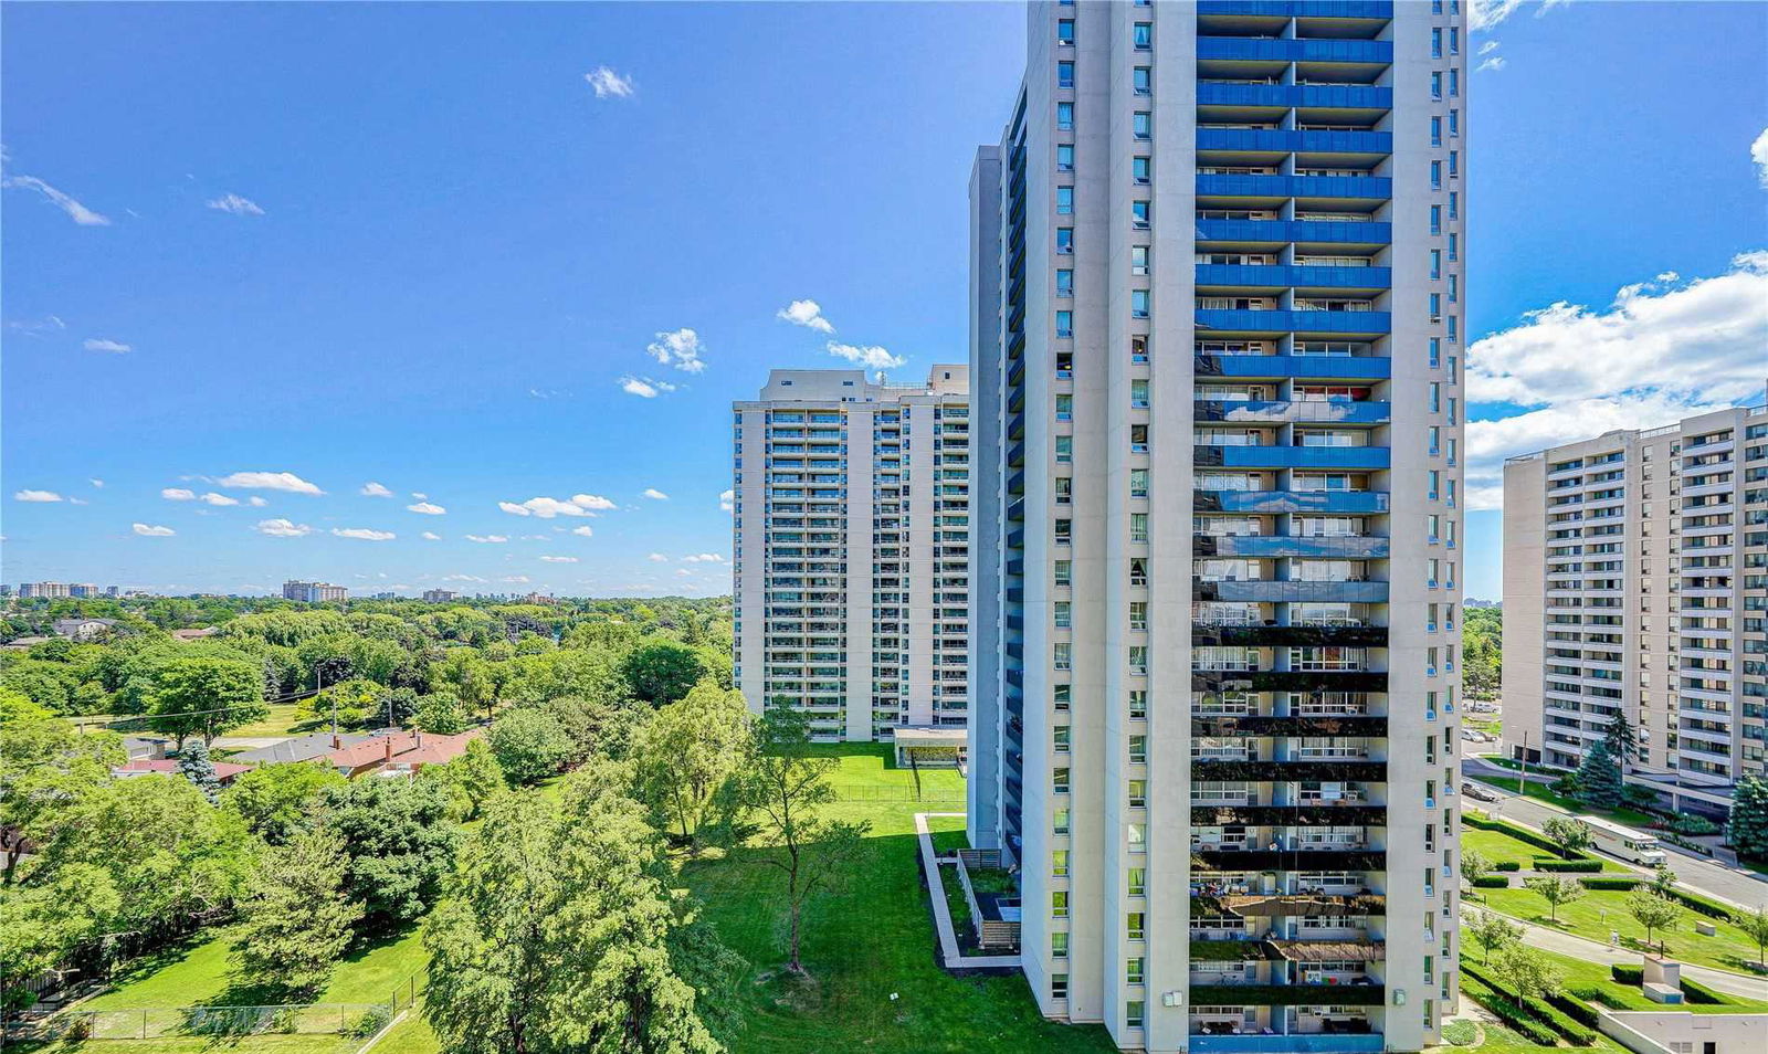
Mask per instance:
[[[1522,410],[1467,424],[1467,504],[1501,504],[1508,456],[1754,398],[1764,347],[1768,251],[1736,256],[1717,278],[1664,272],[1623,286],[1600,311],[1558,302],[1528,313],[1467,354],[1469,400]]]

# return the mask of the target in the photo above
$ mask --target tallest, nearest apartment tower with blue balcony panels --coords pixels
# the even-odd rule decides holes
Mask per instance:
[[[971,840],[1043,1013],[1420,1050],[1457,1001],[1457,0],[1034,2],[971,182]]]

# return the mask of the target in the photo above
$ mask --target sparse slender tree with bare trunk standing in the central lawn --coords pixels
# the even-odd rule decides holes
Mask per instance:
[[[758,813],[757,844],[771,849],[762,863],[780,868],[790,913],[789,969],[804,973],[799,957],[804,904],[834,884],[859,851],[870,824],[831,821],[822,808],[834,801],[833,757],[810,752],[810,718],[790,707],[769,707],[757,722],[755,755],[739,769],[739,794]]]

